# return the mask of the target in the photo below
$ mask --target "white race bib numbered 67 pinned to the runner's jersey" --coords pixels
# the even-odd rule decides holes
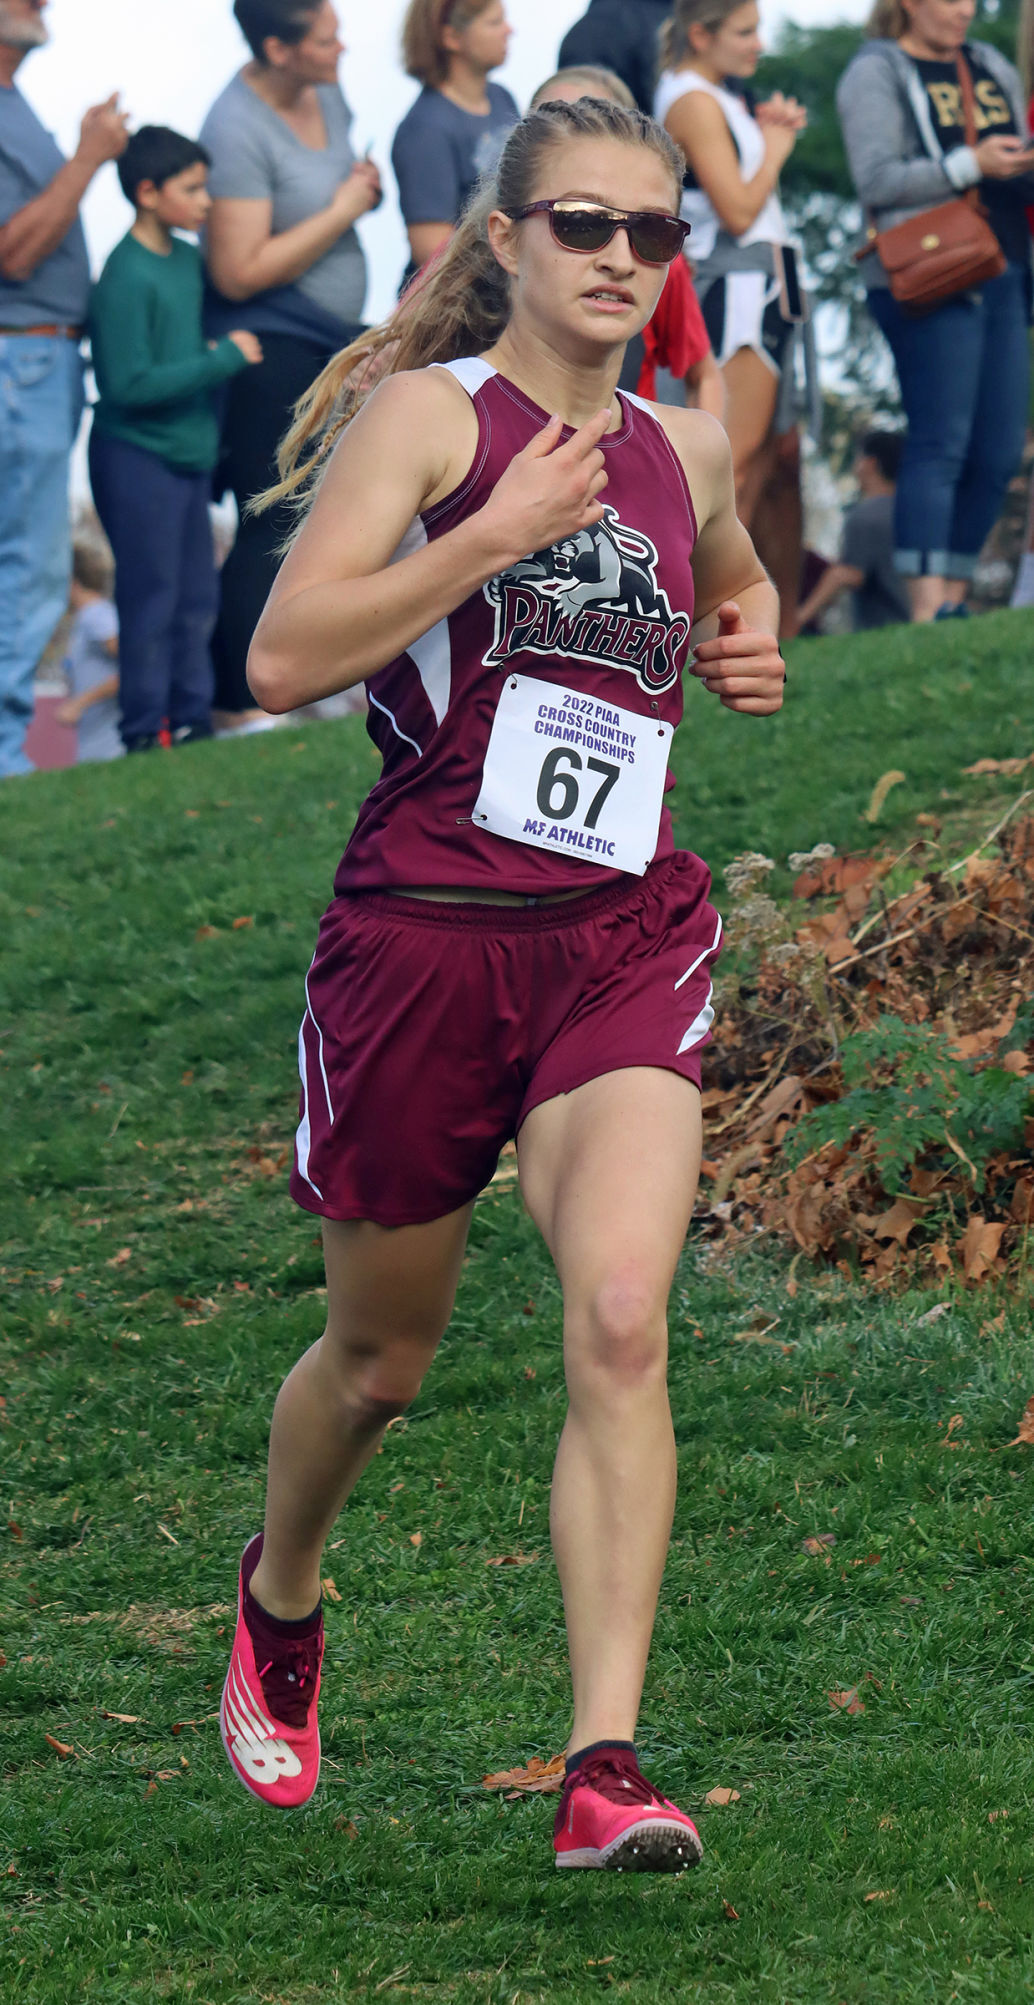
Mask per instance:
[[[507,676],[475,828],[641,876],[653,862],[673,728],[533,676]]]

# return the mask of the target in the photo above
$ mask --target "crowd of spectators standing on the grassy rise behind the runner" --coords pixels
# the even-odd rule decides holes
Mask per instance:
[[[513,0],[519,26],[519,0]],[[838,86],[866,219],[860,273],[900,385],[900,431],[858,441],[858,503],[818,579],[802,551],[800,427],[820,383],[780,172],[808,110],[757,100],[753,0],[589,0],[535,92],[651,112],[685,156],[675,257],[621,387],[697,403],[729,435],[737,509],[786,634],[850,593],[856,626],[962,618],[1028,427],[1030,48],[970,38],[976,0],[876,0]],[[248,646],[291,535],[277,477],[293,411],[363,333],[363,217],[381,170],[353,144],[333,0],[234,0],[246,60],[196,136],[130,130],[118,94],[64,158],[18,88],[46,0],[0,0],[0,778],[30,770],[34,676],[72,614],[68,698],[82,758],[184,746],[273,720]],[[1024,22],[1034,10],[1024,12]],[[411,0],[419,86],[391,166],[417,293],[491,176],[521,106],[495,72],[503,0]],[[1024,42],[1030,36],[1024,30]],[[132,221],[90,283],[80,205],[116,162]],[[68,463],[92,365],[88,465],[110,545],[72,551]],[[236,535],[216,567],[210,501]],[[1014,604],[1034,604],[1034,535]]]

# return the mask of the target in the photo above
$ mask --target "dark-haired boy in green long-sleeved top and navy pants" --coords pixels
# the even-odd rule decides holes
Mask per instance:
[[[168,126],[132,134],[118,178],[136,221],[92,293],[100,401],[90,433],[96,513],[114,551],[126,752],[208,738],[208,642],[218,585],[208,519],[218,453],[214,391],[263,359],[252,333],[206,343],[196,245],[208,215],[208,154]]]

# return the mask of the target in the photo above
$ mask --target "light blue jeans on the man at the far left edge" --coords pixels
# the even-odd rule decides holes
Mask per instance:
[[[0,780],[32,772],[32,680],[68,606],[68,455],[82,361],[56,335],[0,335]]]

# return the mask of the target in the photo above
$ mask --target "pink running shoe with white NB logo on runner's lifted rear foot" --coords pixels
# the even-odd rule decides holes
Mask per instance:
[[[309,1634],[283,1636],[244,1594],[263,1534],[244,1548],[236,1590],[236,1636],[222,1686],[218,1730],[236,1778],[279,1811],[309,1802],[319,1782],[319,1670],[323,1616]]]

